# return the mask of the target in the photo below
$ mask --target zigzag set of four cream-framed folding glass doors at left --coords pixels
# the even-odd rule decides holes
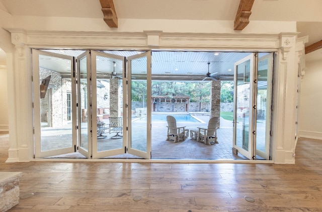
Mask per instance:
[[[145,83],[145,99],[151,96],[150,51],[127,58],[87,50],[74,58],[33,50],[33,66],[36,158],[78,151],[87,158],[150,159],[151,102],[142,105],[143,122],[132,123],[131,109],[135,81]],[[118,127],[112,118],[121,120]]]

